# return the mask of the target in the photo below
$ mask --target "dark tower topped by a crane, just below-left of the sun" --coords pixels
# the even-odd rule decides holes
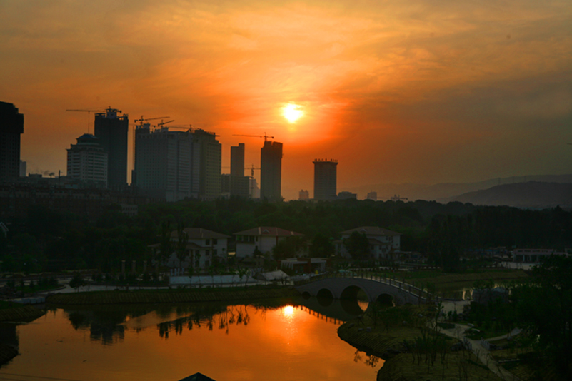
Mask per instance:
[[[282,200],[282,143],[264,141],[260,150],[260,198]]]

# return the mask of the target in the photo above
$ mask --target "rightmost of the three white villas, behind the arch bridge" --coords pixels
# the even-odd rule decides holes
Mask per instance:
[[[350,255],[343,240],[349,238],[354,231],[363,233],[369,240],[369,253],[374,259],[391,258],[391,253],[399,251],[401,248],[401,233],[378,228],[377,226],[361,226],[351,230],[341,232],[341,240],[336,240],[336,254],[349,258]]]

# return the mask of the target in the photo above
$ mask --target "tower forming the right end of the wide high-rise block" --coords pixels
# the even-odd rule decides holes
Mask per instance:
[[[222,146],[214,132],[193,131],[199,150],[199,197],[214,200],[221,194]]]

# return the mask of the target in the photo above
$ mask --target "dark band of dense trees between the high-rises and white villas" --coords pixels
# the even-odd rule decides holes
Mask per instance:
[[[343,230],[380,226],[402,234],[402,250],[427,253],[431,262],[453,271],[459,269],[459,258],[470,248],[572,247],[572,212],[561,208],[522,210],[435,201],[184,200],[141,205],[134,218],[121,214],[119,205],[114,205],[96,221],[31,205],[26,218],[3,222],[10,231],[7,238],[0,234],[1,270],[26,272],[52,268],[109,271],[120,268],[121,260],[149,260],[147,246],[171,245],[169,232],[182,226],[227,235],[256,226],[277,226],[303,233],[313,244],[310,253],[314,256],[331,254],[332,242]]]

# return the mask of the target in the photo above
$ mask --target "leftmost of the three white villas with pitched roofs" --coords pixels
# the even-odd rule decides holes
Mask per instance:
[[[171,245],[173,253],[169,257],[167,265],[174,268],[189,268],[191,261],[194,268],[209,268],[213,263],[213,258],[219,261],[226,261],[229,235],[216,233],[202,228],[186,228],[186,255],[185,259],[179,263],[176,255],[176,245],[179,243],[179,234],[171,233]]]

